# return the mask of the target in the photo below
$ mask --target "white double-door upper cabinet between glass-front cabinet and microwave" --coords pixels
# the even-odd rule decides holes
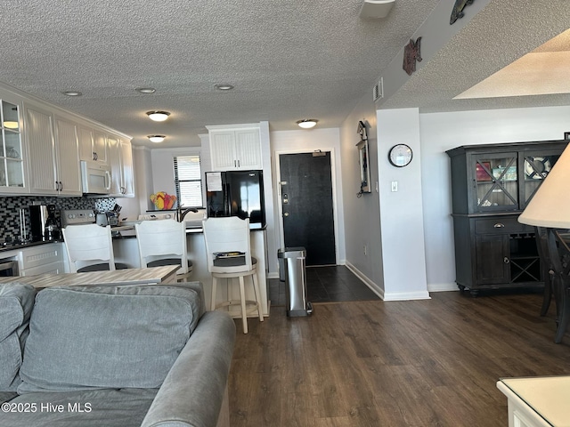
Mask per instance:
[[[77,126],[36,105],[24,105],[32,194],[81,196]]]

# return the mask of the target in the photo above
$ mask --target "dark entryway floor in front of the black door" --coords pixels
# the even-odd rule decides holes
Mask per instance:
[[[272,307],[286,305],[285,283],[269,279]],[[306,300],[318,302],[379,301],[379,296],[354,276],[345,266],[308,267],[306,269]]]

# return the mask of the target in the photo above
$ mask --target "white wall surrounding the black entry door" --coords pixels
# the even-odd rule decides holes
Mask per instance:
[[[354,127],[354,132],[356,127]],[[334,129],[310,129],[310,130],[299,130],[299,131],[277,131],[271,133],[271,153],[272,153],[272,173],[273,173],[273,205],[278,206],[280,203],[279,193],[277,185],[279,182],[279,177],[276,176],[275,165],[279,161],[276,156],[278,152],[312,152],[314,150],[321,149],[322,151],[330,151],[331,159],[334,161],[333,167],[333,180],[335,187],[335,201],[336,201],[336,223],[335,227],[337,230],[337,249],[338,249],[338,263],[343,264],[345,262],[345,230],[344,230],[344,212],[342,205],[342,191],[343,191],[343,179],[342,179],[342,168],[340,165],[340,143],[338,128]],[[274,239],[277,242],[278,247],[282,247],[283,243],[281,241],[281,232],[278,224],[281,223],[281,218],[279,218],[279,209],[274,211]],[[272,256],[273,254],[270,254]],[[277,256],[277,250],[275,249],[274,256]],[[272,275],[274,277],[274,275]]]

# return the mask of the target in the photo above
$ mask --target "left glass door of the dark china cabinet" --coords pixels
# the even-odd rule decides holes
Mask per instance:
[[[475,157],[476,211],[518,208],[517,153]]]

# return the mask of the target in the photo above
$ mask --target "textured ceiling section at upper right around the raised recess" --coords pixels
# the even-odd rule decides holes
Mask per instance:
[[[565,37],[547,42],[569,27],[568,0],[492,0],[381,108],[441,112],[570,105],[568,93],[453,99],[527,52],[564,51]],[[545,83],[548,73],[533,78]],[[509,85],[501,90],[515,93],[519,83],[512,76],[500,83]]]

